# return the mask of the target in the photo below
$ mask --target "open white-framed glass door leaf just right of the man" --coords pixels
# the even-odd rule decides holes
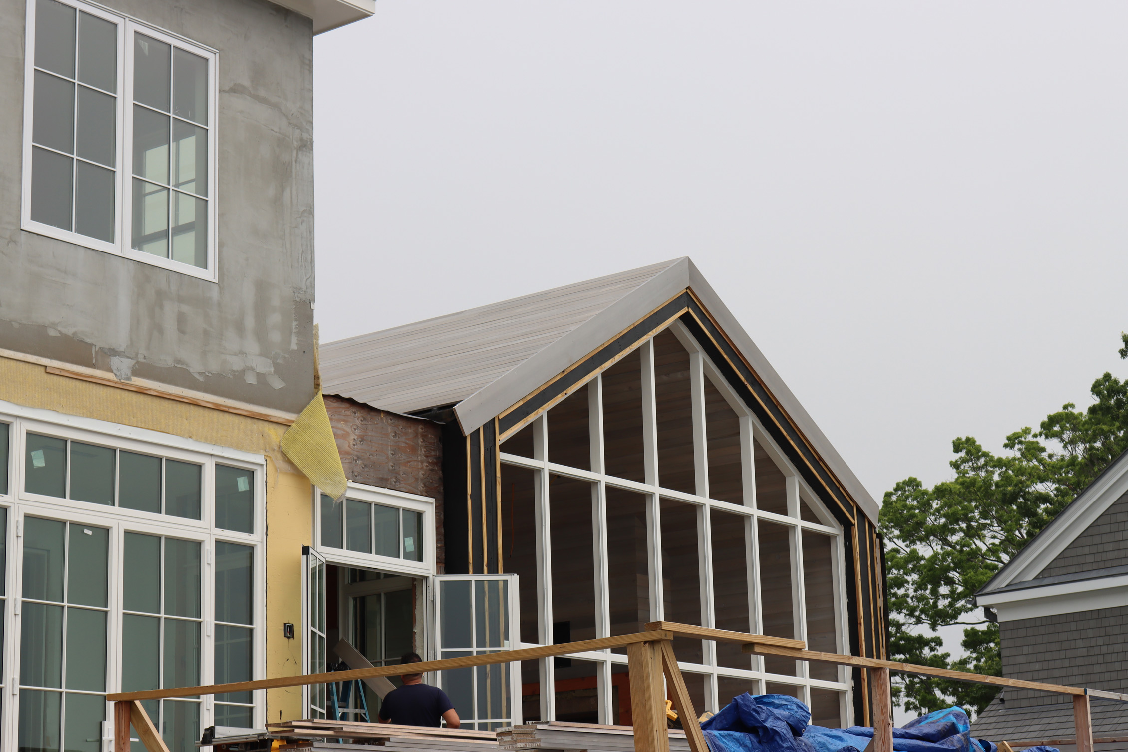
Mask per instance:
[[[517,575],[434,577],[437,658],[510,649],[520,644]],[[464,728],[493,731],[521,723],[521,664],[502,663],[439,673]]]

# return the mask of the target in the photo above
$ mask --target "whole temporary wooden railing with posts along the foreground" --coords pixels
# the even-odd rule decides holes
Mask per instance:
[[[1036,681],[1005,679],[971,674],[932,666],[919,666],[911,663],[865,658],[855,655],[820,653],[805,649],[802,640],[747,632],[710,629],[671,621],[654,621],[645,626],[645,631],[616,637],[601,637],[559,645],[525,647],[512,651],[497,651],[483,655],[467,655],[442,661],[424,661],[412,664],[414,672],[447,671],[466,669],[513,661],[530,661],[585,651],[601,651],[613,647],[627,648],[627,664],[631,682],[631,713],[634,719],[635,752],[669,752],[670,741],[666,726],[667,690],[672,696],[673,707],[681,718],[696,719],[689,691],[678,669],[673,655],[675,637],[693,639],[710,639],[723,643],[737,643],[744,653],[783,655],[797,661],[820,661],[838,665],[858,666],[869,671],[870,691],[873,697],[874,735],[872,752],[893,752],[893,713],[889,674],[891,671],[940,676],[957,681],[994,684],[1032,689],[1073,697],[1074,724],[1076,727],[1075,743],[1077,752],[1093,752],[1093,729],[1090,720],[1089,699],[1100,697],[1110,700],[1128,702],[1128,695],[1103,692],[1079,687],[1047,684]],[[352,679],[370,679],[373,676],[394,676],[403,673],[400,665],[376,666],[372,669],[354,669],[352,671],[334,671],[320,674],[303,674],[299,676],[275,676],[255,681],[232,682],[228,684],[211,684],[206,687],[180,687],[174,689],[152,689],[136,692],[116,692],[108,695],[107,700],[114,702],[114,750],[124,752],[130,744],[130,725],[136,728],[138,737],[149,752],[168,752],[160,733],[146,714],[140,700],[151,700],[174,697],[200,697],[224,692],[246,692],[256,689],[276,689],[280,687],[301,687],[306,684],[327,684]],[[663,687],[663,678],[666,684]],[[696,723],[682,724],[691,752],[708,752],[705,735]]]

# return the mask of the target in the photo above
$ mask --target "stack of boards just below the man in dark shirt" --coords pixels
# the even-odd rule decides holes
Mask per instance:
[[[359,720],[288,720],[267,724],[270,735],[284,742],[281,749],[341,749],[361,744],[378,744],[387,752],[494,752],[496,735],[492,731],[470,728],[432,728],[368,724]],[[340,741],[351,744],[340,744]]]

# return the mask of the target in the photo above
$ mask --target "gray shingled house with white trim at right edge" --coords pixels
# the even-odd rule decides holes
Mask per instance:
[[[1128,452],[1003,567],[976,602],[998,620],[1004,676],[1128,691]],[[1128,708],[1120,702],[1094,697],[1092,717],[1095,737],[1128,740]],[[1007,689],[972,733],[1072,738],[1073,710],[1064,696]],[[1128,750],[1128,741],[1095,749]]]

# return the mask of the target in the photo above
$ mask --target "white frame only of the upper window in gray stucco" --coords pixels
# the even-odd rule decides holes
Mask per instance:
[[[63,230],[51,224],[44,224],[32,219],[32,130],[33,115],[35,109],[34,80],[35,80],[35,6],[36,0],[27,0],[27,26],[25,29],[26,57],[24,61],[24,174],[23,174],[23,196],[20,227],[29,232],[64,240],[67,242],[100,250],[115,256],[131,258],[143,264],[158,266],[171,272],[178,272],[188,276],[194,276],[208,282],[218,282],[218,254],[217,254],[217,165],[218,165],[218,139],[217,139],[217,89],[218,89],[218,64],[219,52],[211,47],[201,45],[171,32],[150,26],[130,16],[112,11],[103,6],[86,2],[85,0],[60,0],[64,5],[77,8],[80,11],[98,16],[105,20],[117,25],[117,134],[116,134],[116,159],[115,159],[115,204],[114,204],[114,242],[106,242],[97,238],[79,235],[71,230]],[[161,42],[177,45],[191,50],[194,54],[208,60],[208,268],[201,269],[190,264],[182,264],[170,258],[160,258],[151,254],[135,250],[132,247],[132,209],[133,209],[133,34],[140,32]],[[77,127],[77,118],[76,118]],[[76,157],[77,159],[77,157]],[[169,153],[171,159],[171,152]],[[169,215],[169,248],[171,248],[171,214]]]

